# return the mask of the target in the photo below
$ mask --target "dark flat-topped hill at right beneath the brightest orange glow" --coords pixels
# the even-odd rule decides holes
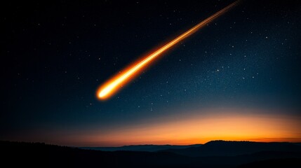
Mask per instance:
[[[177,153],[191,157],[234,156],[262,151],[300,152],[301,146],[288,142],[210,141],[199,147],[164,150],[164,152]]]

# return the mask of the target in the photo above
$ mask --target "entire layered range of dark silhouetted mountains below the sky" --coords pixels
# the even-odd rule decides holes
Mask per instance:
[[[164,149],[97,151],[0,141],[1,163],[8,167],[301,167],[301,146],[293,143],[210,141],[187,148],[157,147]]]

